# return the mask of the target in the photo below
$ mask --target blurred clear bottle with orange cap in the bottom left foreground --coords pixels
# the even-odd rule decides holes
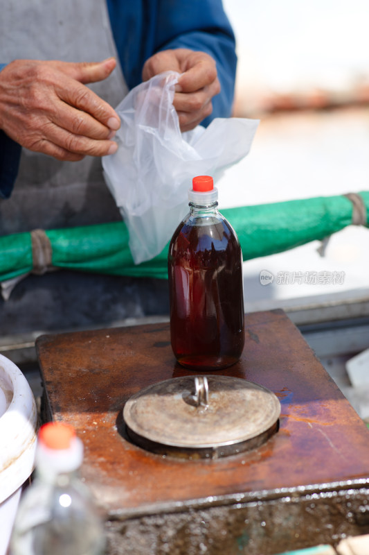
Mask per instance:
[[[60,422],[41,427],[36,476],[25,491],[10,540],[11,555],[100,555],[102,520],[82,484],[83,444]]]

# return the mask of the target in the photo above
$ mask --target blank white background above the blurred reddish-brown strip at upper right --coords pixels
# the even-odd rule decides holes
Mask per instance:
[[[368,0],[224,0],[238,80],[278,92],[346,87],[369,74]]]

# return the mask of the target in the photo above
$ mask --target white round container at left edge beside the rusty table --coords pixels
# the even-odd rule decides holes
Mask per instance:
[[[35,466],[37,408],[21,370],[0,355],[0,555],[8,549],[21,486]]]

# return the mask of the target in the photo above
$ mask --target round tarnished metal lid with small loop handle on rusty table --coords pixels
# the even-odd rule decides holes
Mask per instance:
[[[201,375],[167,379],[127,401],[134,443],[160,453],[226,456],[263,443],[278,429],[280,402],[245,379]]]

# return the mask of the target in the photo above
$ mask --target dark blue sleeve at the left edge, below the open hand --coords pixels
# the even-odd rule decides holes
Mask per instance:
[[[6,64],[0,64],[0,71]],[[0,129],[0,198],[9,198],[17,178],[21,146]]]

